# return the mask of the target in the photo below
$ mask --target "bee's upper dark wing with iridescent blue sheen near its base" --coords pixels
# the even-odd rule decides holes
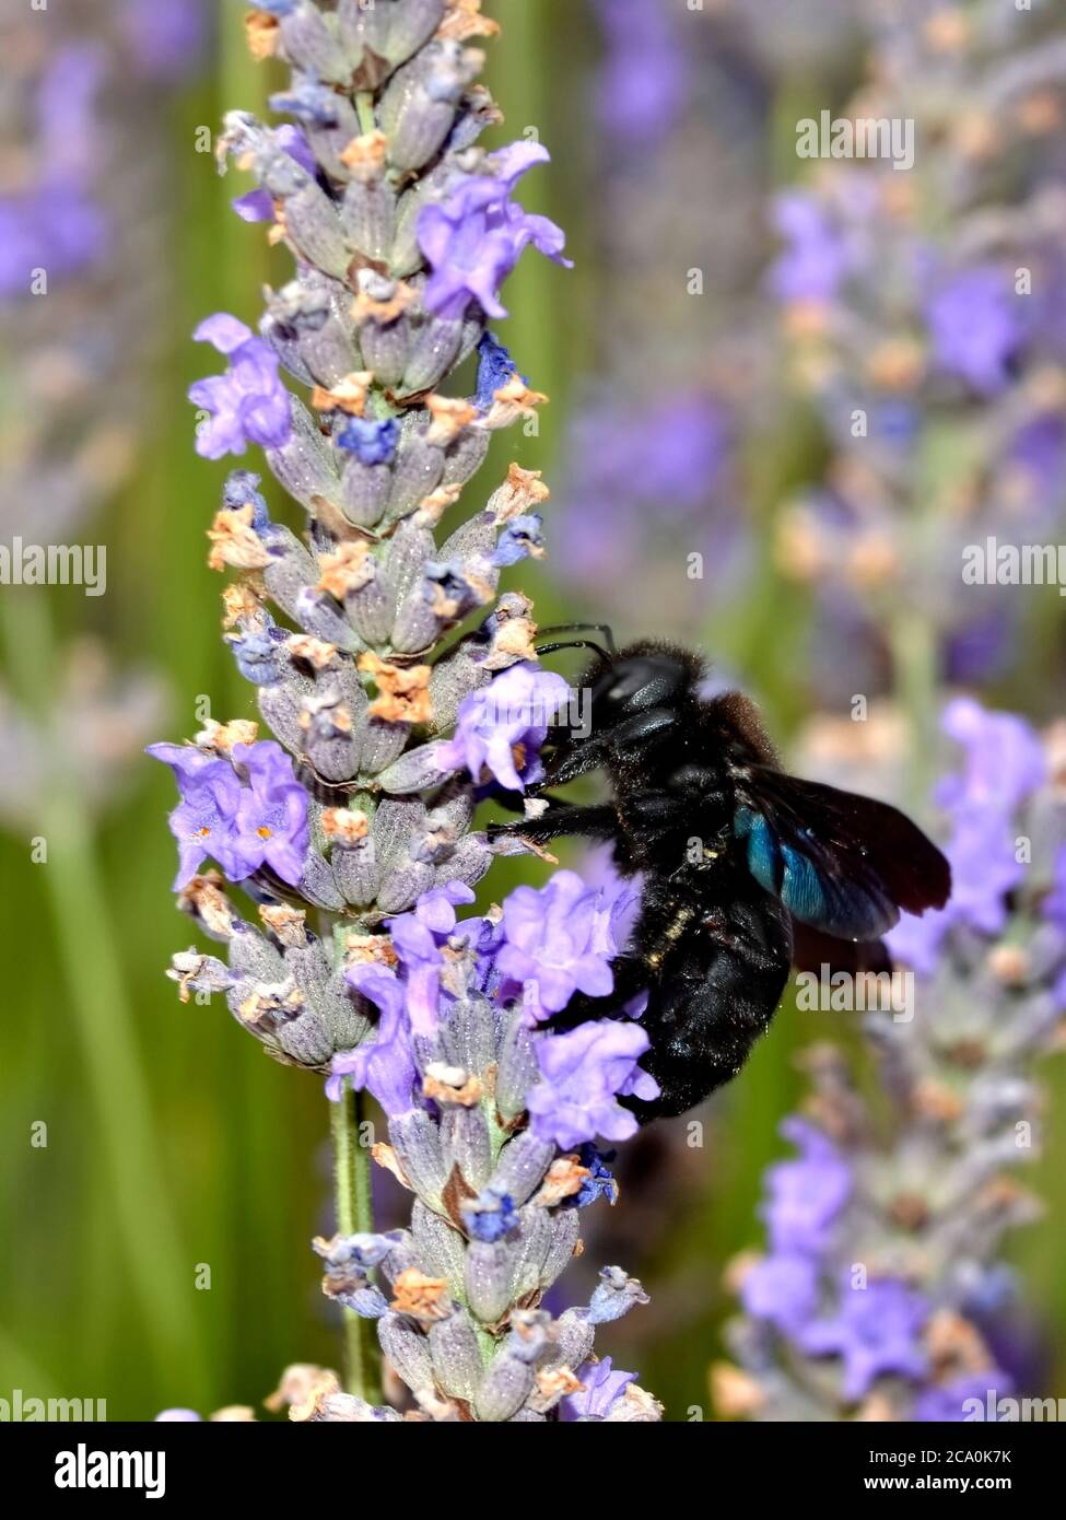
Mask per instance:
[[[748,869],[800,923],[877,939],[900,909],[947,901],[947,862],[899,809],[768,766],[738,766],[733,780]]]

